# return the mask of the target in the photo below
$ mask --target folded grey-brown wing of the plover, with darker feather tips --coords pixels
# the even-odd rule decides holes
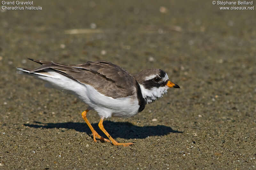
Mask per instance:
[[[82,84],[89,84],[105,96],[119,98],[134,95],[136,80],[132,74],[108,61],[88,61],[78,65],[63,65],[57,62],[34,60],[42,66],[29,73],[51,68]]]

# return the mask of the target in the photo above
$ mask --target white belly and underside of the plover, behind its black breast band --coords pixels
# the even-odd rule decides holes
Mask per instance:
[[[35,76],[49,82],[53,88],[73,94],[96,110],[101,118],[111,116],[126,118],[138,114],[140,106],[136,96],[114,99],[102,95],[91,85],[81,84],[52,70],[47,70],[47,72],[51,74],[51,77],[36,74]],[[49,84],[47,86],[49,87]]]

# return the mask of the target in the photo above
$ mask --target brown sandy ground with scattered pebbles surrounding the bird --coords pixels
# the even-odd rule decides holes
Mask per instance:
[[[0,169],[256,168],[255,10],[205,0],[27,6],[42,10],[0,11]],[[104,122],[133,146],[93,142],[86,104],[15,73],[38,66],[28,57],[108,60],[132,74],[161,68],[180,89],[135,117]],[[95,111],[88,119],[97,127]]]

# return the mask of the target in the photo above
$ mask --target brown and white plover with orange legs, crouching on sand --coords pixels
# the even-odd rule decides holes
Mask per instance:
[[[169,81],[167,73],[161,69],[145,69],[132,75],[108,61],[63,65],[54,61],[28,59],[41,66],[35,69],[16,67],[16,73],[34,76],[45,81],[45,87],[70,93],[88,105],[82,117],[92,131],[94,142],[99,138],[113,145],[133,145],[132,142],[119,143],[112,138],[104,128],[103,120],[135,116],[144,110],[146,104],[163,97],[167,89],[180,88]],[[86,117],[89,110],[98,112],[98,126],[108,138],[103,138],[94,130]]]

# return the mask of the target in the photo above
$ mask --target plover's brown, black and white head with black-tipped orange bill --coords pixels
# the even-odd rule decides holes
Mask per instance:
[[[138,81],[142,96],[147,103],[152,103],[162,97],[171,87],[180,88],[177,84],[169,81],[168,75],[161,69],[146,69],[134,77]]]

